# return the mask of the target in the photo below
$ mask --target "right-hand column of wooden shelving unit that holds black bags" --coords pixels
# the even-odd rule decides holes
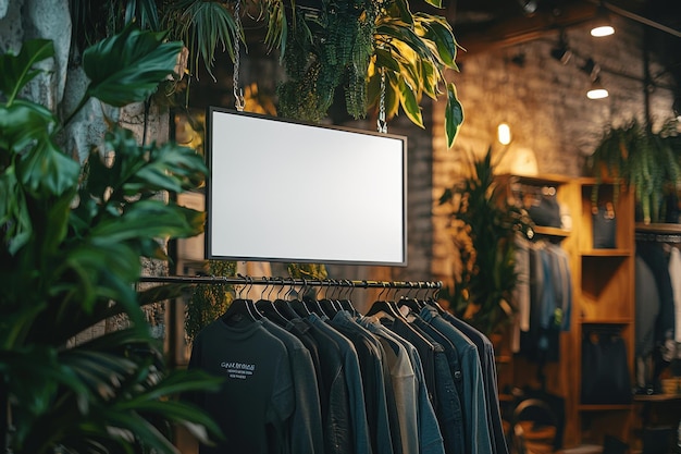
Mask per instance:
[[[571,183],[572,219],[575,231],[573,257],[573,311],[571,349],[574,369],[570,375],[571,395],[567,402],[566,440],[574,445],[602,445],[606,434],[629,440],[633,404],[582,404],[582,338],[592,330],[617,331],[627,346],[631,380],[634,371],[634,195],[611,185],[599,185],[600,203],[615,205],[616,244],[611,249],[594,248],[592,192],[593,179]],[[615,191],[618,191],[616,194]]]

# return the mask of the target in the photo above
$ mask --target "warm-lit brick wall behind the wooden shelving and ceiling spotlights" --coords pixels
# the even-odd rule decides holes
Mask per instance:
[[[627,33],[622,30],[624,25],[629,27]],[[527,162],[534,159],[540,173],[579,176],[605,125],[645,119],[644,32],[624,20],[616,27],[616,35],[599,40],[585,28],[568,30],[568,44],[574,54],[565,65],[550,56],[558,32],[512,48],[461,57],[461,71],[453,78],[466,121],[453,149],[446,149],[442,138],[444,106],[437,103],[433,110],[432,279],[450,283],[456,273],[455,254],[446,232],[448,219],[436,204],[444,188],[460,179],[466,151],[482,155],[493,146],[495,152],[505,154],[499,171],[516,171],[518,163],[532,169]],[[608,98],[585,97],[590,78],[579,66],[590,57],[602,66],[600,78],[609,90]],[[651,59],[651,73],[660,74],[654,56]],[[673,101],[668,88],[671,81],[663,75],[655,83],[657,86],[647,90],[654,128],[671,116]],[[496,126],[502,121],[510,125],[512,133],[506,149],[496,143]]]

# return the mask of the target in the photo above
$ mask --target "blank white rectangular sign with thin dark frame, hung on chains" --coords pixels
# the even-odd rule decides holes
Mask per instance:
[[[209,108],[207,257],[407,263],[403,136]]]

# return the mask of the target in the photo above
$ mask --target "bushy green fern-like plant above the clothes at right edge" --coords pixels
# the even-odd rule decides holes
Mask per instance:
[[[678,122],[670,120],[659,133],[653,133],[633,120],[620,127],[607,126],[587,160],[587,172],[596,179],[592,193],[594,207],[598,185],[633,186],[641,220],[645,223],[665,219],[663,199],[681,184],[681,137]],[[614,192],[617,197],[618,191]]]

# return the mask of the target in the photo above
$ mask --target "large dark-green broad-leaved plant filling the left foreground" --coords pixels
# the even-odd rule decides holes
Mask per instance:
[[[83,53],[83,102],[146,99],[173,73],[182,45],[133,27]],[[203,160],[173,143],[140,146],[113,125],[84,165],[60,148],[64,124],[22,89],[52,58],[51,41],[0,56],[0,446],[32,453],[172,453],[172,426],[219,437],[175,398],[219,382],[169,370],[141,306],[173,294],[136,291],[143,258],[202,229],[203,213],[163,201],[205,177]],[[72,115],[64,115],[71,118]],[[126,327],[74,342],[124,315]]]

